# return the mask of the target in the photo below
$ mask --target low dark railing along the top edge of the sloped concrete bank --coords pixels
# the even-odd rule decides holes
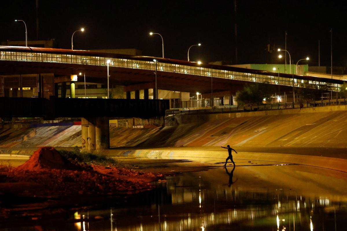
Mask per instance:
[[[243,106],[243,107],[228,107],[228,108],[212,108],[212,109],[196,109],[196,110],[179,110],[170,109],[166,110],[166,116],[175,115],[201,115],[201,114],[214,114],[214,113],[238,113],[238,112],[251,112],[251,111],[272,111],[272,110],[284,110],[294,108],[313,108],[313,107],[325,107],[333,105],[347,105],[347,99],[335,99],[335,100],[317,100],[306,101],[298,103],[273,103],[273,104],[261,104],[255,106]]]

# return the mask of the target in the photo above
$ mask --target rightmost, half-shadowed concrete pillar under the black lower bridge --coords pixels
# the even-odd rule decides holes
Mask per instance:
[[[96,150],[110,148],[110,127],[108,117],[97,117],[95,127]]]

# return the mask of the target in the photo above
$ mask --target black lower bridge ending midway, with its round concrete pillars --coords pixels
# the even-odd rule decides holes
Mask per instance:
[[[0,117],[81,117],[82,148],[110,147],[110,117],[164,116],[168,100],[0,97]]]

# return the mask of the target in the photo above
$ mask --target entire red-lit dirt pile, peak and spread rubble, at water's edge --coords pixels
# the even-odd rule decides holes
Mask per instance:
[[[150,190],[154,187],[150,182],[160,177],[116,167],[72,164],[54,148],[43,147],[17,168],[0,167],[0,189],[17,196],[112,196]],[[18,184],[25,187],[18,190]]]

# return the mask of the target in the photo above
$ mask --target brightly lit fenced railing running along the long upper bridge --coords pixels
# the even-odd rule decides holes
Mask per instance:
[[[110,60],[110,67],[122,67],[132,69],[142,69],[154,71],[156,65],[152,61],[136,60],[130,58],[109,58],[88,55],[71,55],[71,54],[53,54],[43,52],[13,52],[1,51],[0,61],[20,61],[20,62],[43,62],[43,63],[65,63],[79,64],[92,66],[106,66],[107,60]],[[203,66],[188,66],[172,63],[157,63],[157,69],[161,72],[171,72],[188,75],[198,75],[211,78],[225,78],[229,80],[239,80],[246,82],[269,83],[275,85],[285,85],[294,87],[306,87],[316,89],[317,85],[327,86],[327,90],[340,91],[342,85],[338,83],[330,83],[322,81],[311,81],[300,79],[300,76],[295,78],[281,77],[277,72],[272,74],[264,73],[243,73],[230,70],[220,70],[217,68],[205,68]]]

